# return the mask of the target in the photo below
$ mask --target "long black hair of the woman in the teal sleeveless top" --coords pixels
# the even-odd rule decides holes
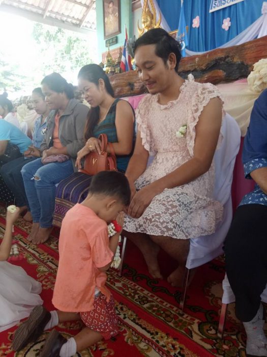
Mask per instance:
[[[114,97],[114,91],[111,87],[109,79],[103,69],[95,63],[86,64],[83,66],[78,73],[78,79],[82,78],[88,82],[95,83],[99,86],[99,80],[102,79],[105,83],[105,88],[108,94]],[[84,130],[84,138],[88,140],[93,136],[94,127],[99,121],[99,107],[91,108],[87,115],[87,121]]]

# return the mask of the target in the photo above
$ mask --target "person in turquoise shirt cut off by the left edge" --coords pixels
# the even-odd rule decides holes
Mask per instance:
[[[15,125],[0,119],[0,167],[23,155],[32,141]],[[14,202],[14,196],[0,175],[0,201]]]

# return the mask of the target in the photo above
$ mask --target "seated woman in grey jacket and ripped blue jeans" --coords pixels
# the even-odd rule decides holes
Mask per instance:
[[[47,75],[41,84],[48,108],[52,110],[47,118],[45,137],[40,147],[42,158],[29,162],[21,170],[33,216],[32,232],[28,240],[35,244],[44,243],[49,238],[55,185],[73,173],[77,152],[83,146],[88,113],[86,106],[73,99],[73,86],[60,74]]]

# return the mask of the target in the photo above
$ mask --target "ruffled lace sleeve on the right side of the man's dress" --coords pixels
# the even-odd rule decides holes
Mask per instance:
[[[196,137],[196,124],[198,122],[199,116],[202,113],[203,108],[209,103],[212,98],[219,97],[222,101],[222,96],[213,84],[211,83],[194,83],[195,84],[195,94],[191,98],[191,115],[188,116],[187,121],[187,147],[190,152],[190,155],[194,155],[194,145]],[[224,110],[222,109],[222,117],[224,117]],[[220,146],[222,141],[222,134],[220,133],[217,148]]]

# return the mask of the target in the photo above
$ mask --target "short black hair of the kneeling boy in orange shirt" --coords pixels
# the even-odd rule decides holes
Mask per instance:
[[[130,185],[122,172],[101,171],[97,173],[93,176],[88,193],[116,196],[125,206],[130,204]]]

